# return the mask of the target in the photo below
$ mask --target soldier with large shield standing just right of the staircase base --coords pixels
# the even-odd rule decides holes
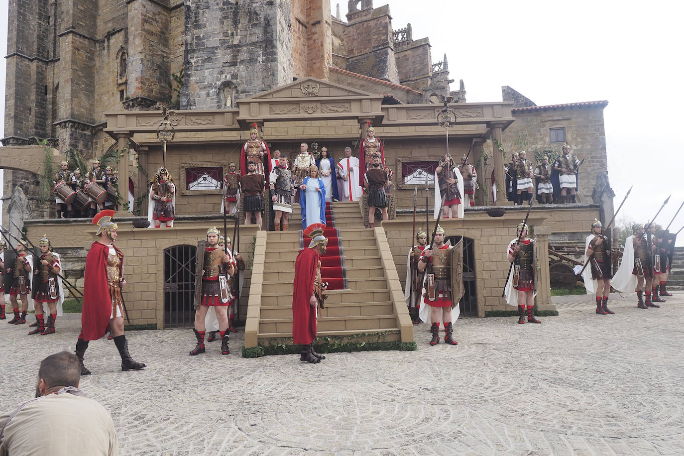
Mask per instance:
[[[444,228],[437,226],[434,234],[434,244],[421,252],[418,271],[426,268],[425,280],[421,286],[420,318],[422,321],[432,321],[430,345],[439,343],[439,322],[444,323],[444,342],[448,345],[458,345],[453,340],[453,323],[456,323],[460,308],[460,295],[453,299],[453,284],[451,283],[451,255],[454,247],[446,245]],[[452,309],[456,308],[456,312]]]

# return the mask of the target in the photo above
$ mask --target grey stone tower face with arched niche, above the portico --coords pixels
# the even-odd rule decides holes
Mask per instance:
[[[280,5],[282,3],[282,5]],[[181,109],[214,109],[226,81],[244,98],[275,88],[281,55],[278,14],[289,14],[283,1],[234,3],[198,0],[185,5],[185,86]]]

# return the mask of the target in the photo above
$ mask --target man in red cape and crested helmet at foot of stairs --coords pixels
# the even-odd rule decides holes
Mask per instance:
[[[311,238],[308,248],[302,250],[295,261],[294,291],[292,294],[292,340],[302,345],[301,361],[317,363],[326,359],[313,350],[316,338],[317,308],[324,306],[328,287],[321,281],[320,256],[326,253],[328,239],[324,237],[323,224],[311,224],[304,236]]]

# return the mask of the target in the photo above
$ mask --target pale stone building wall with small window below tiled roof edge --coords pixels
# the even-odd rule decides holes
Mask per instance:
[[[551,109],[512,109],[516,121],[502,134],[506,159],[512,152],[526,150],[528,157],[535,150],[562,152],[563,143],[551,143],[549,129],[565,127],[566,142],[580,161],[578,202],[592,202],[592,190],[599,172],[606,172],[608,161],[605,144],[603,105]]]

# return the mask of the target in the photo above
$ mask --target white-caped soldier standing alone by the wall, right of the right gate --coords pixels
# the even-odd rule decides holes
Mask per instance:
[[[506,302],[518,307],[518,323],[541,323],[534,317],[534,297],[537,295],[536,243],[527,237],[528,226],[518,224],[516,238],[508,244],[508,263],[514,263],[504,289]]]

